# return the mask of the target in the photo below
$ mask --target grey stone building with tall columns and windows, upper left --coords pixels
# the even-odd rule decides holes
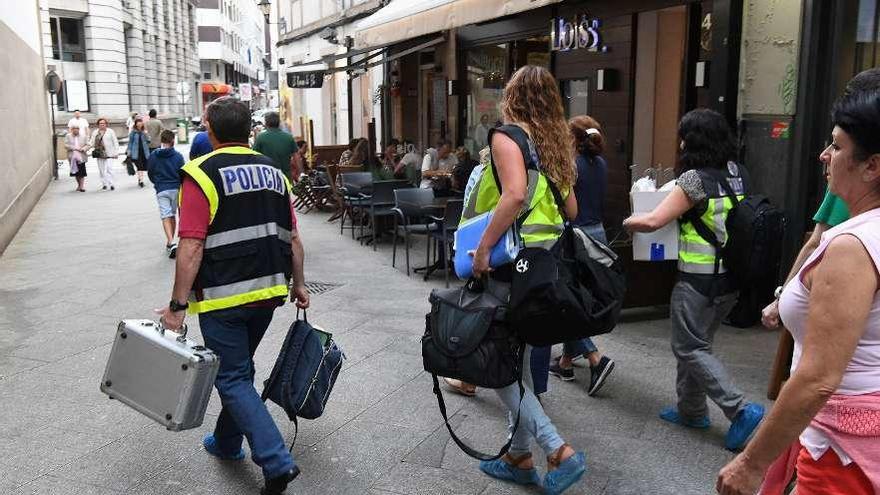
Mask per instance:
[[[45,65],[64,80],[59,122],[74,110],[124,120],[156,108],[196,111],[196,0],[39,0]]]

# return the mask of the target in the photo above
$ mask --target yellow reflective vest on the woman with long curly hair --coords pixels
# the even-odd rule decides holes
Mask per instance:
[[[523,160],[526,163],[526,172],[528,175],[528,193],[526,195],[525,211],[528,216],[522,221],[519,227],[519,234],[525,247],[543,247],[550,249],[556,244],[559,236],[562,235],[565,220],[556,205],[553,193],[548,186],[547,177],[540,172],[538,154],[532,141],[528,135],[520,127],[515,125],[505,125],[497,129],[492,129],[489,134],[489,142],[492,139],[492,133],[503,132],[520,147],[523,153]],[[492,211],[498,206],[501,199],[501,191],[499,188],[499,179],[495,165],[490,162],[486,164],[483,173],[480,175],[477,184],[474,186],[473,192],[467,198],[467,204],[461,215],[461,222],[474,218],[477,215]],[[566,191],[562,191],[563,195]]]

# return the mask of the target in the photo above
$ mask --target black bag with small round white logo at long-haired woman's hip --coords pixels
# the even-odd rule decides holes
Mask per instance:
[[[564,218],[562,196],[548,185]],[[524,342],[545,347],[608,333],[617,324],[626,292],[620,262],[568,222],[551,249],[522,249],[513,267],[508,316]]]

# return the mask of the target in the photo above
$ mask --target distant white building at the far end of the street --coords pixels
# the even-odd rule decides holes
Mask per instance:
[[[264,100],[266,20],[255,0],[200,0],[197,22],[202,106],[236,94],[257,108]]]

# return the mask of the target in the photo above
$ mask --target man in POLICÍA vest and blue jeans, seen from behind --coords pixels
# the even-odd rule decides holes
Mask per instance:
[[[280,494],[299,469],[254,388],[253,355],[289,287],[297,307],[309,306],[303,246],[287,178],[247,147],[248,107],[221,98],[205,120],[214,151],[182,169],[174,289],[159,313],[172,330],[181,328],[187,309],[198,314],[205,345],[220,357],[215,386],[223,409],[205,450],[244,459],[247,438],[266,479],[262,493]]]

